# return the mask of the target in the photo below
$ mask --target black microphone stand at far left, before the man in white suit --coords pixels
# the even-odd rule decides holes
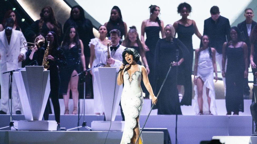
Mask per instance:
[[[22,68],[19,68],[19,69],[17,69],[17,70],[12,70],[12,71],[8,71],[8,72],[4,72],[3,74],[5,74],[5,73],[10,73],[10,75],[9,75],[9,77],[11,77],[11,85],[9,85],[9,95],[8,95],[8,99],[9,99],[9,97],[11,97],[11,113],[10,113],[10,124],[9,124],[9,126],[5,126],[5,127],[1,127],[0,128],[0,130],[1,129],[5,129],[5,128],[7,128],[7,127],[14,127],[14,129],[17,129],[17,127],[15,128],[15,126],[13,125],[13,121],[12,121],[12,75],[13,75],[13,72],[16,72],[16,71],[19,71],[19,70],[21,70]],[[9,78],[10,79],[10,78]],[[9,106],[8,106],[9,107]],[[10,109],[10,107],[9,107],[9,109]]]

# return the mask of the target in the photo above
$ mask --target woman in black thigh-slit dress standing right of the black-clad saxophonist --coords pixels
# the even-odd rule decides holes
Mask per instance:
[[[85,56],[83,52],[83,43],[78,38],[78,32],[74,26],[70,27],[70,31],[66,31],[62,41],[61,49],[66,56],[67,66],[60,68],[60,94],[63,95],[65,112],[69,114],[69,99],[70,90],[73,100],[72,114],[77,114],[78,105],[78,76],[72,77],[80,72],[80,62],[83,66],[83,71],[86,70]]]

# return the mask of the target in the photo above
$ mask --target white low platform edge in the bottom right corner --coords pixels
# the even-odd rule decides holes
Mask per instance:
[[[213,140],[220,140],[225,144],[255,144],[257,143],[257,136],[214,136]]]

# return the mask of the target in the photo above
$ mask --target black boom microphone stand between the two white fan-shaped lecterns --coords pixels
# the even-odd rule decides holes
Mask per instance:
[[[73,127],[73,128],[71,128],[71,129],[67,129],[67,131],[69,131],[69,130],[74,130],[74,129],[79,129],[79,128],[81,128],[81,127],[85,127],[86,129],[92,131],[91,127],[87,126],[87,122],[85,121],[86,72],[91,71],[91,70],[93,70],[94,68],[99,67],[99,66],[101,66],[101,65],[105,65],[105,64],[99,63],[99,64],[97,64],[96,66],[94,66],[94,67],[92,67],[92,68],[90,68],[90,69],[87,69],[87,70],[85,70],[85,71],[83,71],[83,72],[80,72],[80,73],[78,73],[78,74],[72,76],[72,77],[75,77],[75,76],[78,76],[78,75],[80,75],[80,74],[83,74],[83,76],[84,76],[84,88],[83,88],[83,89],[84,89],[84,97],[83,97],[83,123],[82,123],[82,126],[79,126],[79,123],[78,123],[78,126],[77,126],[77,127]],[[80,113],[78,113],[78,116],[79,116],[79,115],[80,115]],[[79,119],[78,119],[78,122],[79,122]]]

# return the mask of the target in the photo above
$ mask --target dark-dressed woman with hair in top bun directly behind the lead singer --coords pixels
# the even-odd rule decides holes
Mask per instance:
[[[123,46],[125,47],[131,47],[135,49],[141,56],[142,62],[144,63],[144,66],[146,68],[147,73],[150,73],[149,66],[145,57],[145,51],[142,45],[142,42],[139,39],[139,35],[137,33],[136,27],[131,26],[128,32],[128,35],[125,37],[125,40],[122,42]],[[141,61],[138,61],[137,64],[142,65]],[[141,88],[146,96],[149,95],[145,85],[141,81]]]

